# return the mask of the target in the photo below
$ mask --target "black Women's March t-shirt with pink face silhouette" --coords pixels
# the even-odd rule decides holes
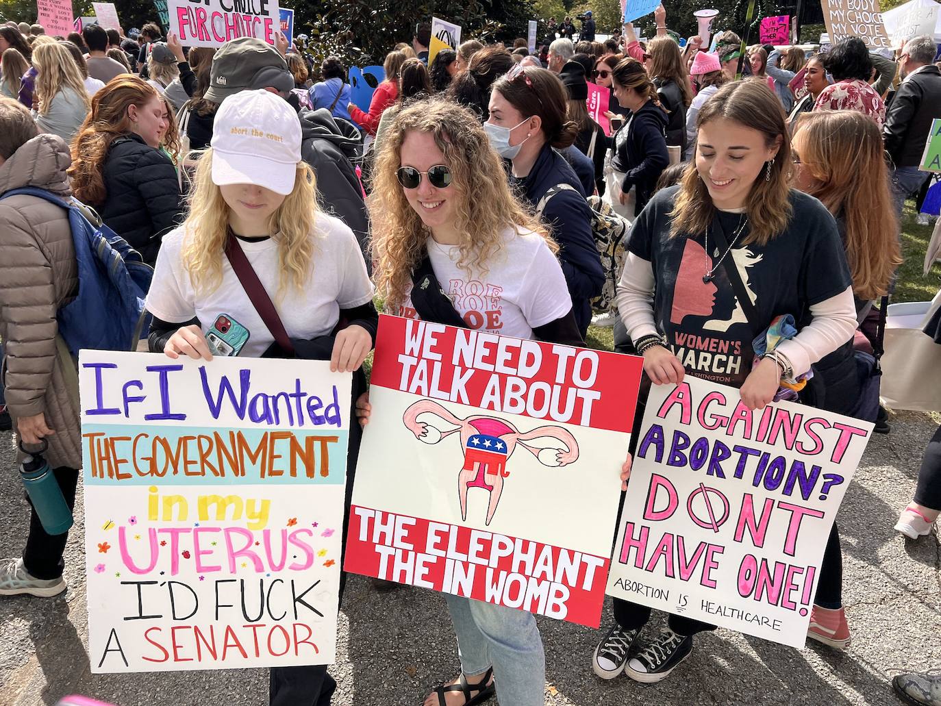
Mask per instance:
[[[775,316],[791,314],[798,329],[809,323],[809,308],[846,291],[852,284],[837,225],[820,201],[790,191],[793,209],[784,233],[766,245],[742,245],[745,225],[731,259],[752,300],[758,321],[746,320],[742,306],[719,265],[720,249],[710,233],[670,237],[670,211],[679,186],[662,189],[647,203],[630,232],[630,252],[654,271],[654,321],[673,352],[695,377],[741,387],[752,369],[752,341]],[[732,242],[742,214],[718,211]],[[718,266],[717,266],[718,265]],[[713,279],[704,281],[715,267]]]

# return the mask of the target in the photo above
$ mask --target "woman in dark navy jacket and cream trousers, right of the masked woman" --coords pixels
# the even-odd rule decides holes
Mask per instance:
[[[613,76],[614,96],[630,110],[631,117],[614,136],[614,178],[605,201],[621,216],[633,220],[670,163],[663,136],[668,118],[643,64],[632,58],[622,59],[614,67]]]

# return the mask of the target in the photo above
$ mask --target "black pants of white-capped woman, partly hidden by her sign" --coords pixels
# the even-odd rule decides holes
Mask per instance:
[[[359,389],[353,388],[353,405]],[[350,411],[349,453],[346,455],[346,492],[343,499],[343,550],[340,566],[346,557],[346,530],[350,523],[350,503],[353,499],[353,481],[359,457],[362,428],[354,410]],[[346,571],[340,571],[340,605],[346,588]],[[273,666],[268,678],[269,706],[329,706],[337,682],[327,674],[327,665]]]

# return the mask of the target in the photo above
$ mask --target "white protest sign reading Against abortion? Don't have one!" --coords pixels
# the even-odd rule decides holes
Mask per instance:
[[[868,422],[686,376],[654,385],[608,593],[804,647],[823,548]]]

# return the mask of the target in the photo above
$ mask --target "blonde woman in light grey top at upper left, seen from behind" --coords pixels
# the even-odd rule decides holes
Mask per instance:
[[[66,142],[78,132],[88,115],[85,79],[72,55],[58,42],[42,43],[33,51],[36,69],[34,118],[40,131]]]

